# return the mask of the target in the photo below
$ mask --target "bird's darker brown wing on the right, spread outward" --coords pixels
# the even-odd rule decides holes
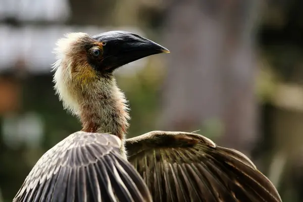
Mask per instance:
[[[127,139],[126,148],[154,201],[281,201],[246,156],[204,136],[152,131]]]

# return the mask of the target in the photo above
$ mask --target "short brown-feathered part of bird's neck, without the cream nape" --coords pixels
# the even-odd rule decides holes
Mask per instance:
[[[123,92],[118,88],[114,77],[102,78],[83,87],[78,100],[82,131],[110,133],[122,142],[128,129],[128,108]],[[87,90],[85,90],[87,89]]]

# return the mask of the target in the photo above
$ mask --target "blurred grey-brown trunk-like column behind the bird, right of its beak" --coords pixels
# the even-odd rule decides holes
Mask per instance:
[[[255,16],[258,1],[174,1],[166,21],[163,130],[224,126],[220,144],[249,155],[257,134]]]

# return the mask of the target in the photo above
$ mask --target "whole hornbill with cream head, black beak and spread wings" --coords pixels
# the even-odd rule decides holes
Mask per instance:
[[[281,201],[239,151],[194,133],[125,139],[128,106],[113,76],[165,47],[125,31],[58,40],[55,89],[82,130],[49,149],[13,201]]]

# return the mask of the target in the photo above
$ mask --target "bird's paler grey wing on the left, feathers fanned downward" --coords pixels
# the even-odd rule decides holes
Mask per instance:
[[[13,201],[151,201],[114,135],[76,132],[49,149]]]

